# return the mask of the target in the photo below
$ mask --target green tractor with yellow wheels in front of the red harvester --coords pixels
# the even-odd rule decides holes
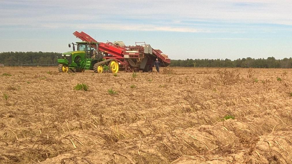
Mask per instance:
[[[62,53],[58,59],[59,72],[84,72],[85,70],[94,70],[95,73],[110,71],[117,73],[119,63],[116,59],[104,59],[104,53],[98,50],[97,42],[76,42],[69,43],[73,46],[73,51]],[[75,51],[77,45],[77,51]]]

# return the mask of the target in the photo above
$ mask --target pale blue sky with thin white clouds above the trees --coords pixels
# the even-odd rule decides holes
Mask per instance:
[[[84,31],[145,41],[171,59],[289,58],[291,9],[290,0],[0,0],[0,52],[66,52]]]

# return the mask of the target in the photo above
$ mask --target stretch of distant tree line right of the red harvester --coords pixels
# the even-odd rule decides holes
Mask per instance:
[[[171,60],[170,66],[180,67],[241,67],[241,68],[292,68],[292,58],[275,59],[254,59],[251,57],[230,60],[230,59],[186,59]]]

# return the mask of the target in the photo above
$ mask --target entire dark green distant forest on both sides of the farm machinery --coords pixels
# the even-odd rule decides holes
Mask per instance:
[[[58,52],[1,52],[0,64],[58,64]],[[186,59],[171,60],[170,66],[180,67],[241,67],[241,68],[292,68],[292,58],[267,59]]]

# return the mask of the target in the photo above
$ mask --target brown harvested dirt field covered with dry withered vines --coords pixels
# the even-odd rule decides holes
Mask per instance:
[[[291,69],[136,75],[0,68],[0,163],[292,163]]]

